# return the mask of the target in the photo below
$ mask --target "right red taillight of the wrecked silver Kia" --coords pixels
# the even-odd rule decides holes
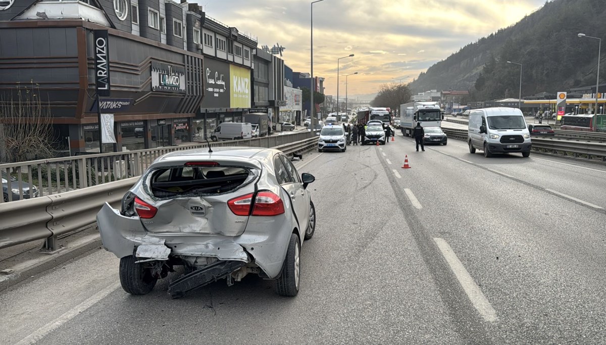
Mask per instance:
[[[253,193],[238,196],[227,201],[227,206],[236,216],[277,216],[284,213],[282,199],[271,192],[257,193],[254,201]]]

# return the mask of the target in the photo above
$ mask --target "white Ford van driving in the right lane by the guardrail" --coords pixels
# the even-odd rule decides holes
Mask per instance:
[[[532,147],[524,115],[516,108],[470,110],[467,143],[470,153],[483,150],[485,157],[508,152],[528,157]]]

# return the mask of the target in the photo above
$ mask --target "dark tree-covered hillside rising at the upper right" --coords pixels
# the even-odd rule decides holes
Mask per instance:
[[[524,67],[522,96],[595,84],[598,41],[578,38],[577,34],[606,38],[604,4],[604,0],[546,2],[517,24],[468,44],[431,66],[410,87],[415,93],[470,90],[473,99],[517,97],[519,66],[506,61],[520,62]],[[605,55],[602,51],[600,74],[606,78]]]

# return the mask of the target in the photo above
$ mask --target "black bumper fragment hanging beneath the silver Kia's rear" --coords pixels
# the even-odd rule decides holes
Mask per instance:
[[[242,261],[217,261],[214,264],[202,267],[191,273],[179,276],[176,280],[170,282],[168,286],[168,293],[173,298],[182,297],[185,293],[198,289],[199,287],[213,283],[225,276],[230,275],[231,272],[244,266]]]

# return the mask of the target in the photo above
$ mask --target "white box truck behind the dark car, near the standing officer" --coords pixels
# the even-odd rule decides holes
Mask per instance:
[[[400,106],[402,134],[411,136],[418,122],[422,127],[441,127],[444,115],[438,102],[410,102]]]

